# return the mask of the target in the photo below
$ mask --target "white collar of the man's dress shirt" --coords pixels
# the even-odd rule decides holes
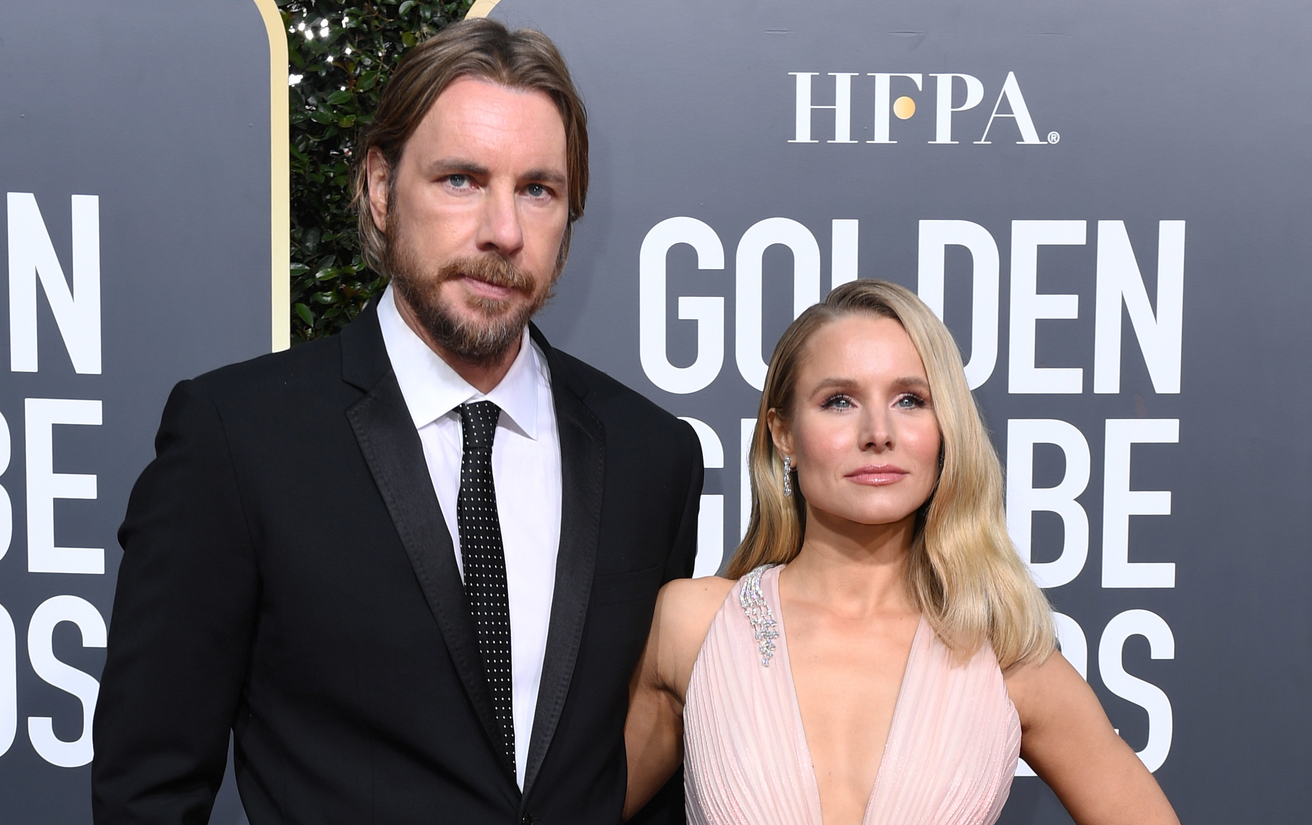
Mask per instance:
[[[487,400],[500,407],[516,429],[537,441],[538,393],[550,392],[551,383],[546,361],[527,329],[505,378],[483,395],[415,334],[396,308],[390,283],[378,299],[378,324],[415,429],[432,424],[461,404]]]

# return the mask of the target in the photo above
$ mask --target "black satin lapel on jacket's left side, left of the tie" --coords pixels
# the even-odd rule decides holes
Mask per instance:
[[[455,550],[424,463],[424,446],[391,369],[346,411],[346,417],[415,567],[415,576],[442,631],[451,661],[464,682],[470,703],[488,738],[500,742],[501,729],[492,711],[492,691],[479,654],[464,584],[455,567]],[[500,746],[495,750],[501,753]],[[513,775],[513,766],[504,767]]]

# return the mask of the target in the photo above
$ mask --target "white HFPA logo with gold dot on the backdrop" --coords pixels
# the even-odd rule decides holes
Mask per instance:
[[[796,136],[789,140],[789,143],[819,143],[819,140],[811,136],[811,113],[815,109],[832,109],[833,110],[833,140],[825,140],[825,143],[861,143],[861,140],[854,140],[851,138],[851,79],[859,77],[859,72],[828,72],[833,77],[834,85],[834,101],[832,105],[816,105],[811,102],[811,79],[820,72],[789,72],[796,77],[796,97],[798,97],[798,122],[796,122]],[[924,75],[921,73],[883,73],[883,72],[870,72],[867,77],[875,79],[875,125],[874,125],[874,139],[866,140],[866,143],[897,143],[888,138],[888,125],[890,114],[905,121],[916,114],[916,101],[914,98],[903,94],[896,100],[890,100],[892,97],[893,79],[897,79],[899,85],[905,87],[905,91],[911,91],[909,87],[914,84],[917,92],[924,91]],[[935,81],[935,105],[934,105],[934,139],[929,143],[960,143],[959,140],[953,140],[953,113],[966,111],[967,109],[974,109],[984,101],[984,84],[980,83],[977,77],[971,75],[930,75]],[[960,105],[953,105],[954,89],[959,88],[955,81],[960,80],[966,84],[966,100]],[[1008,110],[1004,109],[1002,101],[1006,101]],[[980,135],[979,140],[975,143],[992,143],[988,139],[989,130],[993,129],[993,121],[998,118],[1012,118],[1015,121],[1015,126],[1019,130],[1021,139],[1017,143],[1022,144],[1047,144],[1056,143],[1061,139],[1055,131],[1047,134],[1047,139],[1039,138],[1038,130],[1034,127],[1034,119],[1030,117],[1030,109],[1025,105],[1025,96],[1021,94],[1021,84],[1015,80],[1015,72],[1008,72],[1006,80],[1002,81],[1002,89],[997,94],[997,101],[993,104],[993,113],[988,118],[988,123],[984,125],[984,134]]]

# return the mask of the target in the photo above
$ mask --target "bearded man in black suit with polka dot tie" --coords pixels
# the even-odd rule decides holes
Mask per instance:
[[[387,291],[164,409],[119,533],[97,822],[205,822],[230,731],[255,825],[619,821],[627,683],[693,571],[702,462],[529,324],[583,214],[583,105],[546,37],[466,21],[361,143]]]

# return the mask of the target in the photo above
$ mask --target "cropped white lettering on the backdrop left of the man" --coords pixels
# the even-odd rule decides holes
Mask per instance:
[[[46,296],[68,361],[77,375],[101,372],[100,302],[100,198],[71,198],[70,285],[59,262],[59,252],[42,219],[37,198],[26,191],[10,191],[8,206],[9,252],[9,370],[37,372],[38,311],[37,285]],[[47,338],[49,340],[49,338]],[[55,353],[45,353],[39,365],[59,365]],[[55,366],[52,369],[67,369]],[[55,500],[96,498],[96,475],[64,473],[54,470],[55,425],[97,426],[101,403],[85,399],[24,400],[24,462],[28,518],[28,572],[62,574],[104,574],[105,551],[98,547],[55,546]],[[0,473],[9,468],[12,455],[9,422],[0,416]],[[0,557],[13,539],[13,501],[0,488]],[[41,603],[28,622],[28,658],[33,672],[47,685],[77,698],[81,704],[79,737],[72,741],[55,736],[49,716],[28,717],[28,738],[33,749],[51,765],[80,767],[92,759],[91,721],[100,685],[88,673],[55,657],[55,627],[63,622],[81,632],[83,647],[105,647],[105,619],[91,602],[76,595],[54,595]],[[0,755],[7,753],[18,731],[17,689],[18,645],[13,618],[0,606]],[[60,725],[67,728],[67,725]]]

